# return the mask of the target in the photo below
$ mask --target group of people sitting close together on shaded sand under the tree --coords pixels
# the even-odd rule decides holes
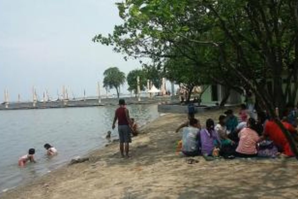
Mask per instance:
[[[284,127],[297,136],[297,114],[294,109],[285,111],[282,118]],[[232,109],[219,115],[218,122],[209,118],[202,128],[194,114],[189,114],[188,121],[181,124],[176,132],[182,129],[182,139],[177,146],[185,156],[203,155],[204,158],[251,158],[276,157],[279,154],[294,156],[288,140],[280,127],[268,118],[265,112],[250,114],[246,105],[241,105],[240,118]]]

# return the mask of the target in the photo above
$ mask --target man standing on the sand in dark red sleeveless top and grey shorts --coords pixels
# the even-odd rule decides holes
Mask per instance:
[[[113,121],[112,129],[115,129],[115,123],[118,120],[118,132],[119,132],[119,143],[121,156],[124,157],[124,144],[125,144],[125,155],[129,157],[129,143],[131,142],[131,119],[129,118],[128,109],[125,107],[124,99],[119,100],[119,108],[115,111],[115,117]]]

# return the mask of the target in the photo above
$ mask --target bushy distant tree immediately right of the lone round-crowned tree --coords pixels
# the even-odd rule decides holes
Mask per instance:
[[[146,73],[144,70],[139,70],[139,69],[136,69],[136,70],[132,70],[128,73],[127,75],[127,84],[128,84],[128,91],[133,91],[134,94],[137,94],[137,88],[138,88],[138,85],[137,85],[137,77],[139,76],[140,78],[140,89],[142,91],[145,90],[146,88],[146,85],[147,85],[147,76],[146,76]]]

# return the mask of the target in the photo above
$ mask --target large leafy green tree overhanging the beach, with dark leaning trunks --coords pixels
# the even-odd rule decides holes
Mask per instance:
[[[118,8],[123,24],[93,41],[114,45],[116,52],[134,58],[149,57],[154,63],[185,58],[215,83],[238,92],[251,90],[298,158],[293,138],[274,112],[275,107],[283,112],[297,96],[296,0],[131,0]],[[272,91],[267,81],[273,82]]]

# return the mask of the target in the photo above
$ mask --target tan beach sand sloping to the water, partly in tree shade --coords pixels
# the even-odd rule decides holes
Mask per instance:
[[[197,115],[217,121],[224,110]],[[90,161],[63,166],[2,198],[298,198],[294,159],[234,159],[187,164],[175,154],[174,133],[186,115],[166,114],[133,139],[129,159],[114,143],[92,152]]]

